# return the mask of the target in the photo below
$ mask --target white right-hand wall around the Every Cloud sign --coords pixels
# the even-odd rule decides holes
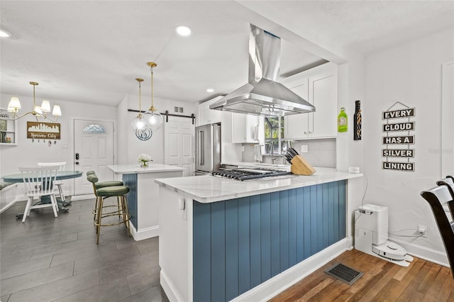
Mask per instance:
[[[454,61],[454,31],[446,30],[397,47],[372,53],[365,60],[365,101],[362,103],[365,203],[389,207],[389,231],[428,225],[428,238],[396,237],[415,255],[448,264],[441,237],[421,191],[441,178],[441,66]],[[451,83],[452,84],[452,83]],[[415,171],[381,168],[382,111],[400,101],[416,108]],[[402,231],[412,234],[412,231]]]

